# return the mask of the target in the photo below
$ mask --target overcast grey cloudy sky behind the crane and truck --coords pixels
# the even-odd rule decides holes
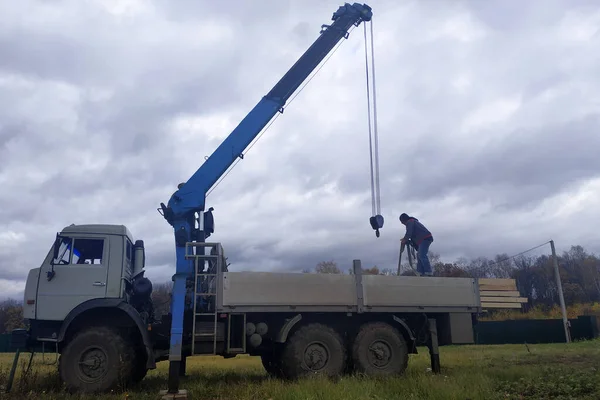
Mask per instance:
[[[343,1],[0,2],[0,293],[57,231],[114,223],[174,273],[157,212]],[[402,212],[443,259],[600,251],[600,4],[374,0],[381,207],[362,25],[208,196],[231,270],[394,268]],[[13,288],[14,285],[16,288]]]

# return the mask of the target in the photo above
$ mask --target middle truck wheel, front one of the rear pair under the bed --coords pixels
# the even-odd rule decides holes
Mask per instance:
[[[289,379],[309,375],[341,375],[346,365],[346,348],[341,336],[323,324],[298,329],[283,350],[281,367]]]

